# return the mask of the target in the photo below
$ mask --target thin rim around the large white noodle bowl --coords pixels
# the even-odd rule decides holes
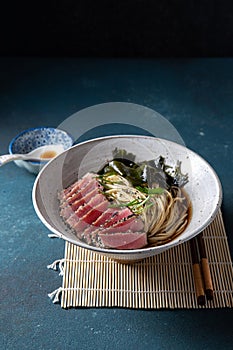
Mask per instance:
[[[66,237],[63,233],[59,232],[57,229],[55,229],[54,227],[52,227],[47,221],[46,219],[43,217],[39,207],[37,206],[37,201],[36,201],[36,192],[37,192],[37,187],[40,181],[40,176],[42,176],[42,174],[46,171],[48,166],[51,166],[51,163],[54,161],[54,159],[52,159],[49,163],[47,163],[45,165],[45,167],[41,170],[41,172],[39,173],[39,175],[37,176],[35,182],[34,182],[34,186],[32,189],[32,202],[33,202],[33,206],[34,206],[34,210],[36,211],[36,214],[38,215],[38,217],[40,218],[41,222],[45,225],[45,227],[47,227],[47,229],[49,229],[51,232],[53,232],[55,234],[55,236],[64,239],[65,241],[68,241],[72,244],[75,244],[81,248],[84,249],[89,249],[93,252],[96,253],[100,253],[100,254],[105,254],[105,255],[115,255],[115,256],[121,256],[121,255],[143,255],[143,254],[147,254],[147,256],[149,256],[150,252],[155,252],[155,254],[158,253],[162,253],[165,250],[168,250],[170,248],[173,248],[181,243],[187,242],[190,239],[192,239],[193,237],[195,237],[196,235],[198,235],[200,232],[202,232],[207,226],[210,225],[210,223],[215,219],[219,209],[221,208],[221,204],[222,204],[222,199],[223,199],[223,190],[222,190],[222,185],[220,182],[220,179],[216,173],[216,171],[214,170],[214,168],[202,157],[200,156],[198,153],[196,153],[195,151],[191,150],[190,148],[181,145],[179,143],[176,143],[174,141],[170,141],[167,139],[163,139],[163,138],[159,138],[159,137],[153,137],[153,136],[144,136],[144,135],[110,135],[110,136],[103,136],[103,137],[97,137],[97,138],[93,138],[93,139],[89,139],[77,144],[74,144],[71,149],[74,148],[78,148],[80,146],[82,146],[83,144],[86,143],[91,143],[91,142],[95,142],[95,141],[103,141],[106,139],[112,139],[112,138],[146,138],[146,139],[155,139],[155,140],[161,140],[162,142],[168,142],[170,144],[175,144],[178,145],[179,147],[181,147],[184,150],[187,150],[188,152],[191,152],[192,154],[194,154],[195,156],[197,156],[198,158],[200,158],[202,160],[202,162],[204,162],[207,167],[211,170],[211,172],[213,173],[213,176],[216,180],[217,183],[217,188],[218,188],[218,196],[217,196],[217,200],[216,200],[216,206],[215,209],[213,210],[213,212],[211,213],[210,217],[208,219],[206,219],[202,225],[200,225],[198,227],[198,229],[193,230],[192,234],[188,237],[188,238],[180,238],[178,240],[171,240],[168,243],[159,245],[159,246],[154,246],[154,247],[144,247],[144,248],[139,248],[139,249],[108,249],[108,248],[100,248],[100,247],[95,247],[95,246],[91,246],[88,245],[85,242],[82,241],[77,241],[75,239],[72,239],[70,237]],[[65,150],[63,151],[61,154],[58,155],[58,157],[62,156],[64,153],[68,152],[69,150]],[[157,253],[156,253],[157,252]],[[154,255],[154,254],[153,254]]]

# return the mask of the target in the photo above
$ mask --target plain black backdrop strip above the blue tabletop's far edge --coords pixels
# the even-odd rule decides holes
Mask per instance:
[[[231,0],[58,0],[1,5],[0,54],[232,56]]]

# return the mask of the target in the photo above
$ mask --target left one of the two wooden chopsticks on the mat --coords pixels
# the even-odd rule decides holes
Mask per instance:
[[[190,240],[190,250],[191,250],[191,256],[192,256],[192,263],[193,263],[193,277],[194,277],[194,284],[195,284],[195,290],[197,295],[197,303],[198,305],[205,305],[204,285],[203,285],[203,280],[201,275],[201,266],[199,264],[197,241],[195,238],[192,238]]]

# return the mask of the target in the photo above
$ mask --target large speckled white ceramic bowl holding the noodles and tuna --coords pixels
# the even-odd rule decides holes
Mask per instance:
[[[185,231],[169,243],[136,250],[103,249],[81,242],[67,230],[59,216],[57,194],[88,171],[98,171],[116,148],[136,155],[136,161],[164,156],[167,164],[182,162],[182,172],[189,174],[185,185],[192,202],[192,218]],[[80,247],[125,262],[143,259],[164,252],[200,233],[214,219],[222,201],[220,181],[212,167],[199,155],[177,143],[147,136],[110,136],[93,139],[71,147],[50,161],[38,175],[33,188],[33,205],[45,226]]]

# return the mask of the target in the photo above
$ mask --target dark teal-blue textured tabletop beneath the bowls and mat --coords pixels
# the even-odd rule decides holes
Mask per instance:
[[[56,127],[94,104],[127,101],[161,113],[218,173],[233,252],[233,59],[2,58],[0,77],[2,154],[22,130]],[[112,127],[96,128],[83,139],[110,133]],[[232,309],[54,305],[47,294],[61,285],[61,277],[46,266],[63,257],[64,242],[49,239],[34,212],[34,180],[13,163],[0,168],[1,349],[232,349]]]

